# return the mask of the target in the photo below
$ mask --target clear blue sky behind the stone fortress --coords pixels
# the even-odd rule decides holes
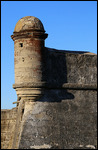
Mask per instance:
[[[14,81],[15,25],[25,16],[39,18],[48,33],[45,46],[97,54],[97,1],[1,1],[1,108],[17,101]]]

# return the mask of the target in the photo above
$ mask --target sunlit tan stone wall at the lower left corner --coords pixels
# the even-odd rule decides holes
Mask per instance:
[[[1,149],[11,149],[17,108],[1,110]]]

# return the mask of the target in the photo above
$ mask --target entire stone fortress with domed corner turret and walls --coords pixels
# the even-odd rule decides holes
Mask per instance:
[[[2,149],[96,149],[97,55],[47,48],[45,38],[35,17],[16,24],[18,99],[15,108],[2,110]]]

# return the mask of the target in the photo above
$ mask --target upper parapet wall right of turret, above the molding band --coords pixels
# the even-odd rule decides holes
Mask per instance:
[[[43,50],[43,78],[49,85],[96,84],[97,55],[79,51]]]

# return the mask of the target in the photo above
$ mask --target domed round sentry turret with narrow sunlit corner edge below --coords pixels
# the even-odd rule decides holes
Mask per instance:
[[[19,141],[22,113],[26,100],[36,100],[42,95],[40,87],[30,86],[42,85],[42,51],[44,40],[47,37],[41,21],[33,16],[20,19],[11,36],[15,46],[15,84],[13,85],[18,95],[18,119],[16,120],[16,131],[13,140],[13,148]],[[19,87],[17,87],[17,85]]]

